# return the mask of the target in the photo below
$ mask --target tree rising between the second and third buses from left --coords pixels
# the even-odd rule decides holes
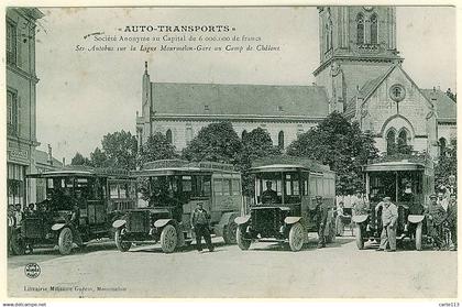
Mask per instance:
[[[253,178],[249,174],[252,161],[268,155],[279,155],[280,150],[273,145],[270,133],[256,128],[242,136],[242,151],[240,153],[239,168],[242,173],[242,193],[252,196],[254,193]]]

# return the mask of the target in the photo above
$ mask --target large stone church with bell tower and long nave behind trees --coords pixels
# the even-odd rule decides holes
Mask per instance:
[[[284,150],[338,111],[358,121],[386,152],[400,142],[438,157],[457,138],[457,105],[440,89],[422,89],[403,69],[396,8],[319,7],[319,67],[311,86],[177,84],[142,79],[139,145],[156,132],[177,150],[209,123],[230,121],[239,135],[265,129]]]

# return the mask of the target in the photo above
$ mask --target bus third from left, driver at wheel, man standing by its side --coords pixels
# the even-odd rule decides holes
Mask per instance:
[[[268,157],[252,166],[255,205],[235,219],[241,250],[252,241],[288,243],[293,251],[301,250],[308,232],[318,232],[317,196],[328,212],[324,237],[327,242],[334,240],[336,173],[329,166],[297,157]],[[267,199],[268,188],[274,190],[272,199]]]

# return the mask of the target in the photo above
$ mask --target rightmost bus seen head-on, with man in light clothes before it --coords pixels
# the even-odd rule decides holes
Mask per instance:
[[[420,251],[426,233],[425,209],[429,196],[435,193],[432,161],[417,156],[405,160],[388,157],[364,165],[363,172],[370,210],[367,215],[353,216],[358,248],[363,249],[366,241],[380,240],[381,208],[375,210],[375,207],[387,196],[398,207],[397,240],[414,241],[416,250]]]

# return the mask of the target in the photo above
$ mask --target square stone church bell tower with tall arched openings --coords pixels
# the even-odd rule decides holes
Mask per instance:
[[[330,112],[343,112],[367,81],[403,58],[396,50],[396,8],[319,7],[319,67]]]

